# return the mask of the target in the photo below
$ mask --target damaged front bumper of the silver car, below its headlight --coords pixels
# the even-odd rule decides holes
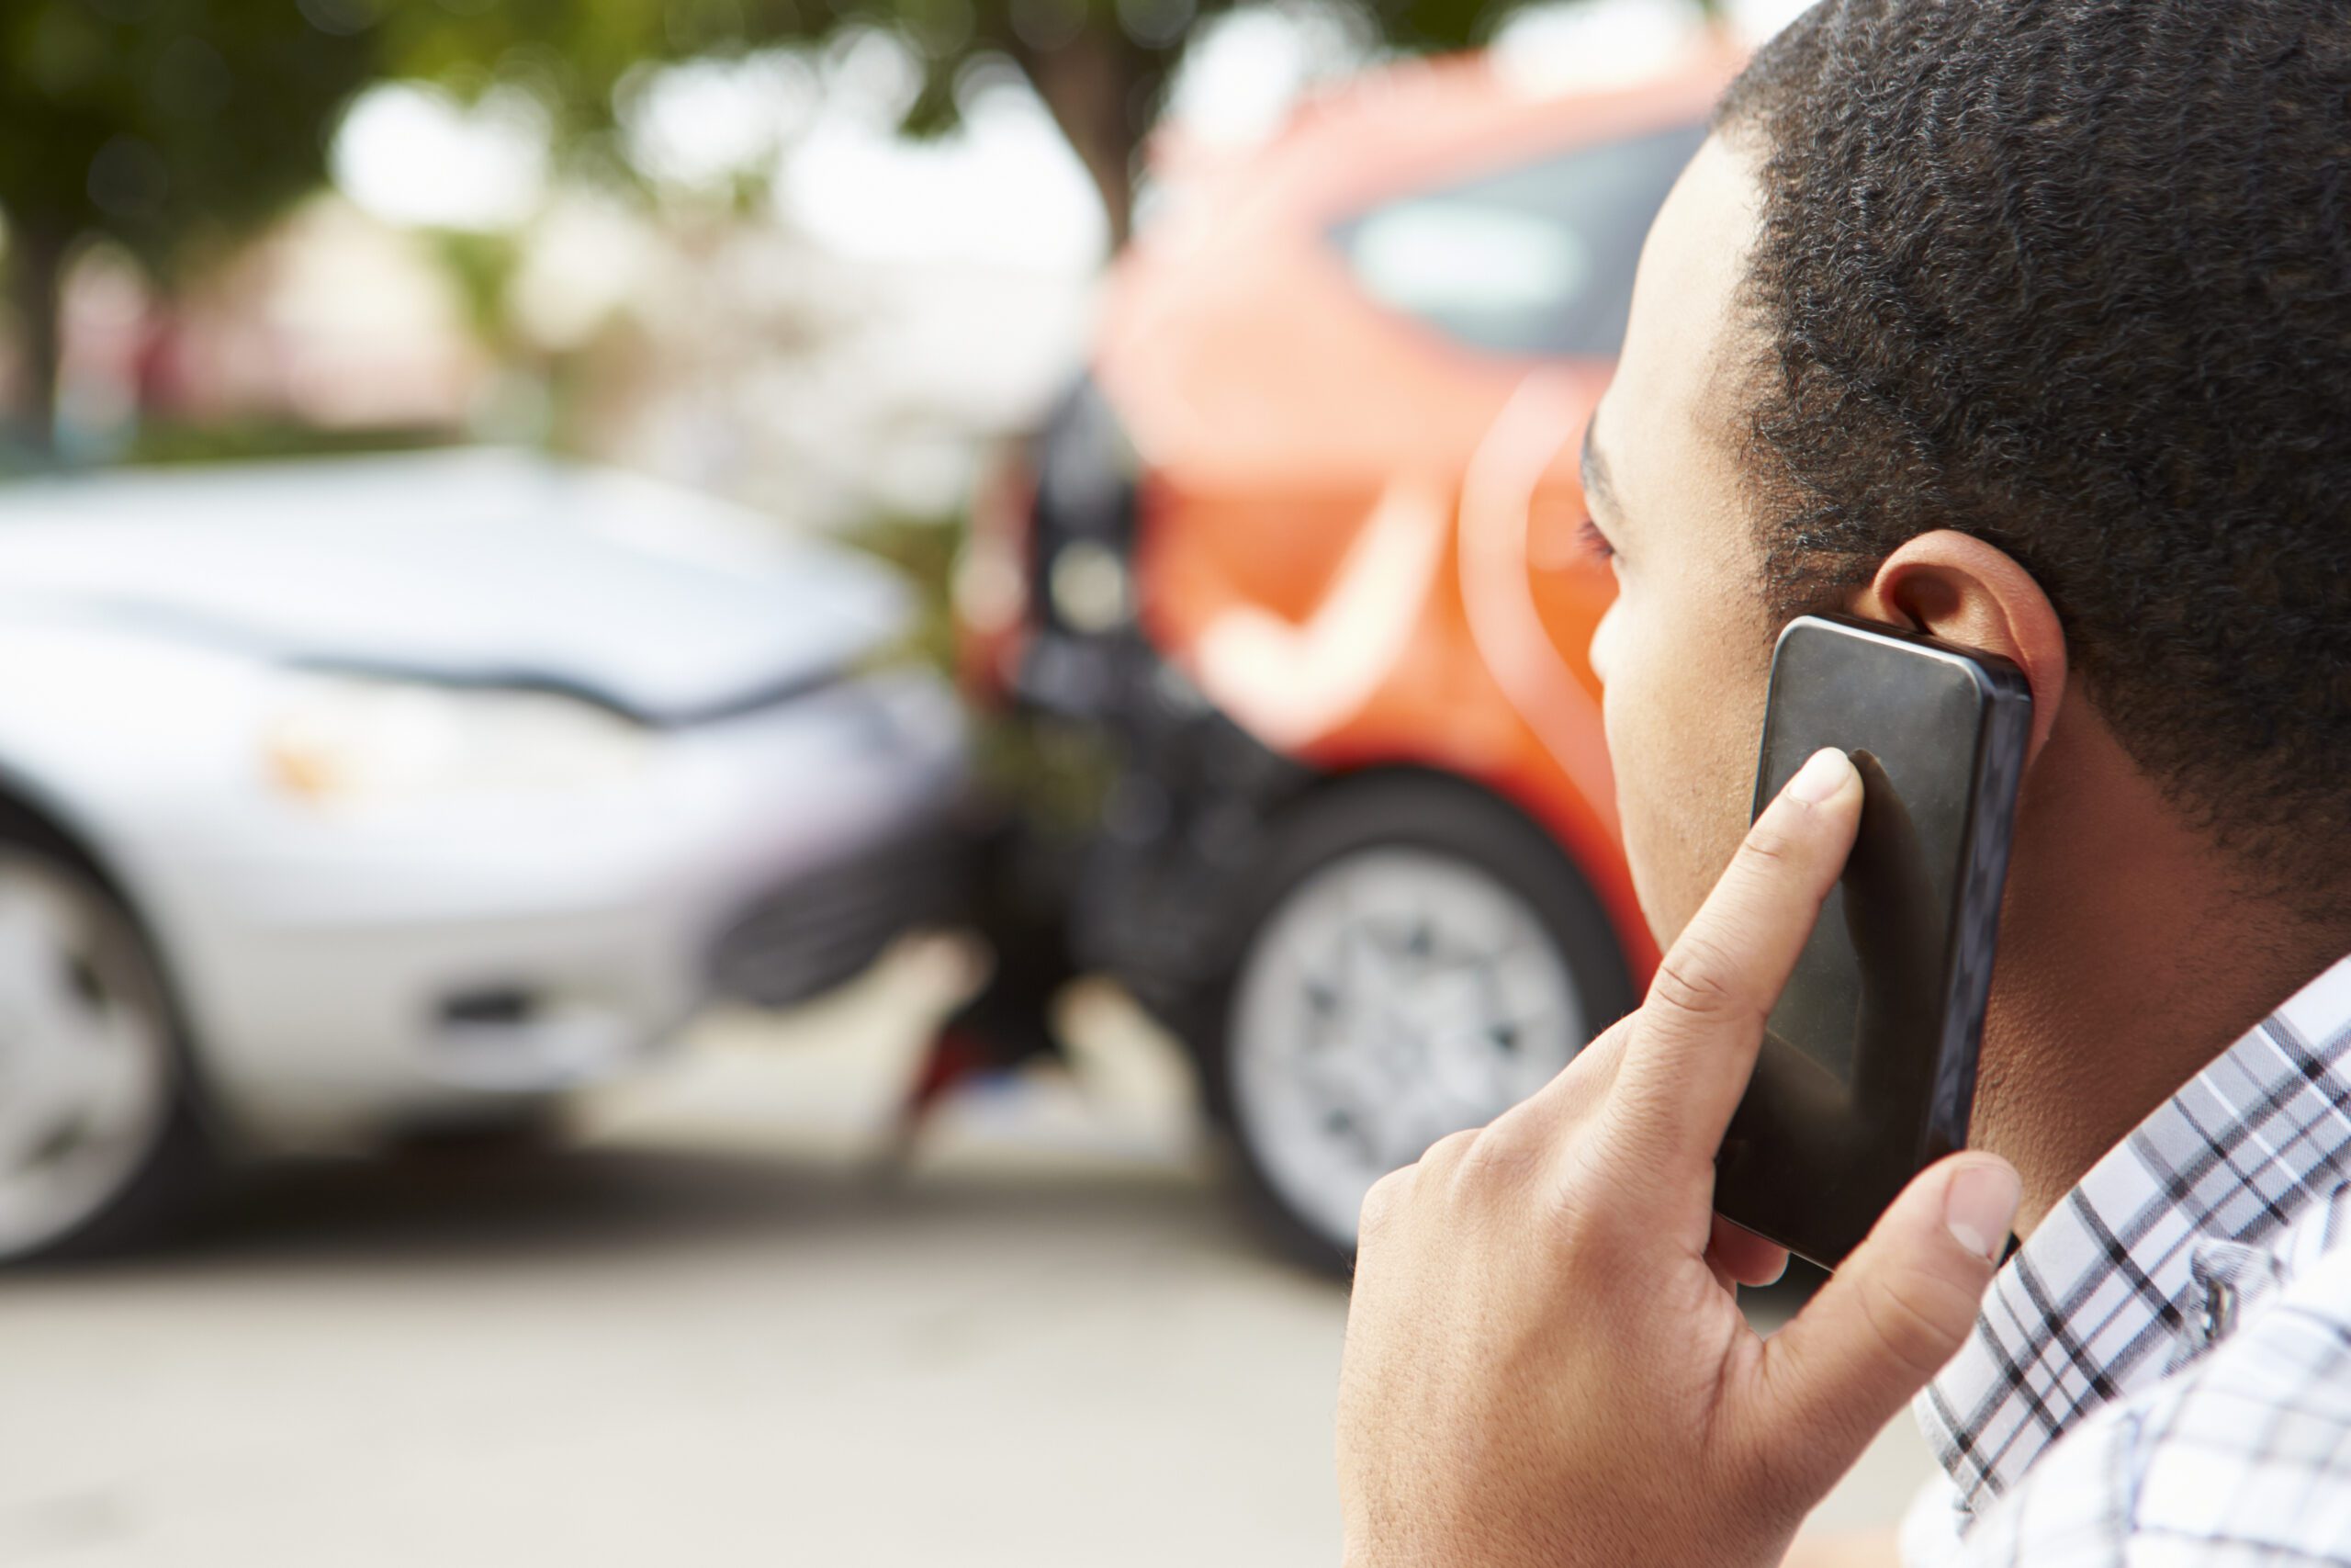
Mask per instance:
[[[719,990],[846,978],[952,900],[966,783],[945,684],[863,677],[661,731],[595,797],[247,813],[146,846],[141,903],[233,1121],[343,1135],[611,1077]]]

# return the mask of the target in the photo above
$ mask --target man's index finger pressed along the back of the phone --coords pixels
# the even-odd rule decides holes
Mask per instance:
[[[1617,1088],[1676,1147],[1714,1154],[1862,820],[1862,776],[1820,750],[1763,806],[1634,1016]]]

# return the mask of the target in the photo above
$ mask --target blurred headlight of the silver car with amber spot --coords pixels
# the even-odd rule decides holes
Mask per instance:
[[[270,780],[317,804],[578,792],[644,766],[630,719],[555,691],[299,675],[263,736]]]

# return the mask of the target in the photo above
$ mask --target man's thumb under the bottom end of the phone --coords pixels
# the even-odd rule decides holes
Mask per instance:
[[[1775,1467],[1806,1455],[1827,1493],[1975,1326],[2017,1218],[1996,1154],[1921,1171],[1796,1319],[1763,1342],[1754,1436]]]

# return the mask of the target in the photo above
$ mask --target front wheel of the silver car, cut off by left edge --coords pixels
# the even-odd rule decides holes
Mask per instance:
[[[61,846],[0,842],[0,1265],[146,1237],[205,1164],[139,924]]]

